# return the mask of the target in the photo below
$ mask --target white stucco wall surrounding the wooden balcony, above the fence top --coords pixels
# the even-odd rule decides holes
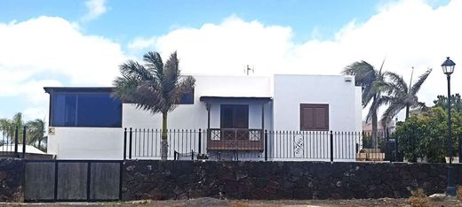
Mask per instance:
[[[181,104],[168,115],[168,128],[205,129],[207,110],[201,96],[270,97],[270,78],[252,76],[195,75],[194,104]],[[219,100],[211,102],[211,128],[219,128],[219,104],[249,104],[249,127],[261,128],[261,102]],[[271,104],[265,105],[265,126],[270,127]],[[134,104],[123,104],[123,127],[162,128],[162,115],[136,109]]]

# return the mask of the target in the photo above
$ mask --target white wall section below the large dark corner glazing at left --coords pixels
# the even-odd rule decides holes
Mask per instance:
[[[54,134],[48,134],[47,153],[57,159],[123,159],[122,128],[52,128]]]

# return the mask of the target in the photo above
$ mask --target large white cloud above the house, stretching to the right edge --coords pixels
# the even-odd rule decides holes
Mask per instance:
[[[166,35],[138,38],[131,49],[158,50],[167,56],[178,50],[185,73],[243,74],[244,65],[255,65],[256,74],[339,74],[354,61],[365,60],[410,79],[434,68],[419,97],[428,104],[446,94],[440,65],[447,56],[462,63],[462,2],[432,8],[423,1],[381,5],[365,22],[352,20],[331,41],[311,39],[292,42],[291,27],[246,22],[235,16],[200,28],[178,28]],[[314,33],[317,33],[316,31]],[[315,35],[314,35],[315,37]],[[459,70],[459,71],[458,71]],[[415,79],[414,79],[415,80]],[[462,68],[452,78],[452,90],[462,93]]]

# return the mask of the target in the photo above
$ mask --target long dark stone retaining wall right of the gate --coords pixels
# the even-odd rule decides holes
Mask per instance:
[[[126,161],[123,200],[408,197],[446,188],[446,165],[325,162]],[[462,165],[455,165],[462,183]]]

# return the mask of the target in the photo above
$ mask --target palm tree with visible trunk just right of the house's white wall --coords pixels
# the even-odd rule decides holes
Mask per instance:
[[[343,74],[354,75],[354,84],[362,87],[362,107],[365,108],[370,103],[369,112],[366,116],[366,121],[372,122],[372,146],[377,148],[378,140],[378,117],[377,112],[380,106],[387,103],[388,98],[382,96],[382,86],[384,85],[384,74],[382,68],[385,59],[382,62],[379,70],[370,65],[366,61],[354,62],[346,66],[342,71]]]

